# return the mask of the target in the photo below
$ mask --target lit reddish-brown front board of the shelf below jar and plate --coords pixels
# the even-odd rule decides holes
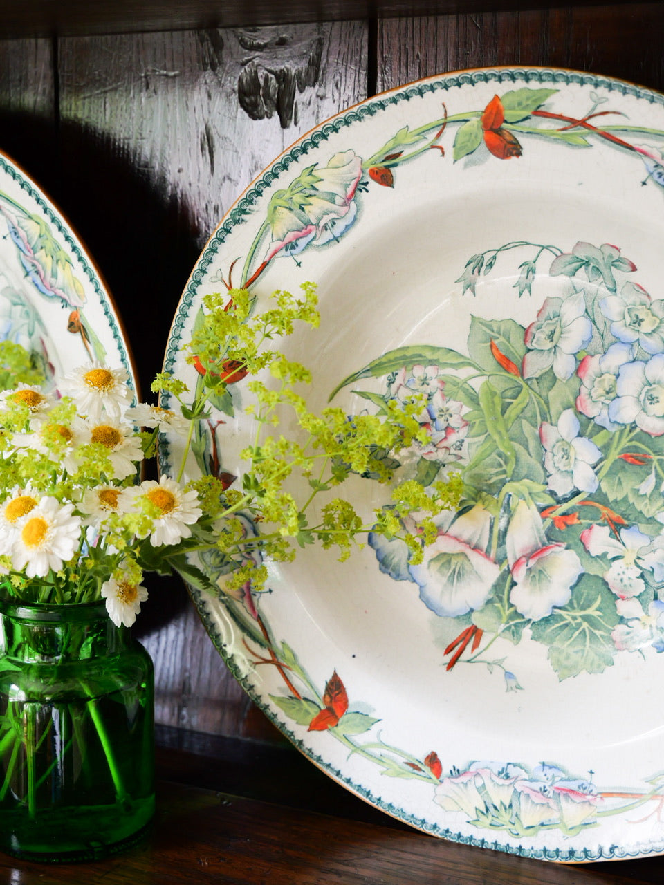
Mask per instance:
[[[564,866],[165,781],[151,834],[125,854],[84,866],[0,856],[12,885],[652,885],[662,873],[662,858]]]

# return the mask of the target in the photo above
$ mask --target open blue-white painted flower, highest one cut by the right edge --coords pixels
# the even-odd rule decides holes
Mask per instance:
[[[601,298],[599,308],[618,341],[638,342],[646,353],[664,350],[664,301],[652,301],[637,283],[626,282],[620,295]]]

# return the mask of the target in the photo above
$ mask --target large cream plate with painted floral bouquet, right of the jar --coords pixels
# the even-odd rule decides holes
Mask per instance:
[[[573,862],[664,852],[662,146],[664,96],[590,74],[397,89],[266,169],[175,317],[166,369],[191,383],[181,343],[231,273],[259,300],[315,281],[320,331],[289,345],[309,403],[426,397],[398,473],[457,470],[465,491],[421,563],[370,535],[343,564],[268,564],[269,593],[194,596],[285,735],[434,835]],[[190,475],[242,473],[245,384]]]

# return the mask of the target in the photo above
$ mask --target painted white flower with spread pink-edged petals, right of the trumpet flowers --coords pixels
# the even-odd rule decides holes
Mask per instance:
[[[605,555],[613,560],[604,580],[616,596],[629,599],[643,593],[643,569],[649,566],[642,555],[650,549],[652,538],[632,526],[621,529],[619,541],[608,526],[593,525],[583,529],[581,541],[591,556]]]

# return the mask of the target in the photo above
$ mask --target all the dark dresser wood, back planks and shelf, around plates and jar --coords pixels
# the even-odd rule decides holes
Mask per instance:
[[[440,0],[435,9],[446,14],[399,18],[366,10],[426,4],[298,4],[306,6],[300,23],[287,15],[265,27],[254,25],[269,17],[218,27],[225,20],[212,14],[218,6],[267,9],[235,0],[6,4],[0,150],[42,185],[86,243],[145,391],[213,228],[320,120],[384,89],[469,67],[560,66],[664,90],[660,2]],[[335,20],[311,21],[313,7],[327,5]],[[181,14],[169,19],[176,7]],[[184,29],[199,13],[206,27]],[[81,867],[1,858],[0,885],[664,881],[660,858],[552,866],[436,841],[390,820],[282,743],[228,673],[181,581],[152,581],[150,592],[137,627],[157,675],[151,835],[121,857]]]

